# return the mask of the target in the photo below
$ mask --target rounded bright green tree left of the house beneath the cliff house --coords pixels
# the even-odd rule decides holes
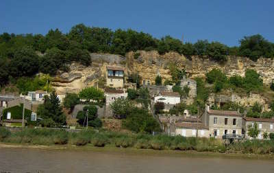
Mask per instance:
[[[88,87],[86,89],[82,89],[79,92],[79,97],[85,100],[93,100],[94,102],[100,103],[104,100],[103,91],[96,89],[95,87]]]

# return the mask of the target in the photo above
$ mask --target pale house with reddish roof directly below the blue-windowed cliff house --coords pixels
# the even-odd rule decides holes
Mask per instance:
[[[105,105],[108,106],[109,104],[112,104],[116,99],[127,98],[127,93],[125,92],[125,89],[105,89]]]

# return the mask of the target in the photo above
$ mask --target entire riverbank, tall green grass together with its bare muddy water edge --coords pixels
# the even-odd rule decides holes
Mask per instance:
[[[227,155],[229,157],[264,156],[273,158],[274,141],[247,140],[234,143],[227,148],[221,139],[170,137],[166,135],[147,135],[99,130],[66,132],[65,130],[24,128],[10,132],[0,128],[0,142],[5,147],[40,148],[57,150],[99,150],[130,151],[172,154]],[[227,152],[229,154],[227,154]],[[206,153],[206,154],[204,154]]]

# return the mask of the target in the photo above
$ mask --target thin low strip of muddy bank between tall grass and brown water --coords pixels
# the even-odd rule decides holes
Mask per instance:
[[[222,159],[260,159],[274,160],[274,154],[242,154],[242,153],[219,153],[219,152],[197,152],[195,150],[153,150],[153,149],[136,149],[136,148],[116,148],[115,146],[95,147],[92,144],[86,146],[71,145],[29,145],[16,143],[1,143],[0,149],[30,149],[30,150],[58,150],[58,151],[79,151],[79,152],[99,152],[111,154],[127,154],[138,156],[155,156],[155,157],[192,157],[192,158],[222,158]]]

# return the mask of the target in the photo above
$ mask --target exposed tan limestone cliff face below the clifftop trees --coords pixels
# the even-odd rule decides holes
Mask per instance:
[[[129,73],[139,73],[143,80],[154,83],[155,77],[160,74],[163,80],[171,79],[169,65],[175,64],[184,68],[191,78],[204,77],[214,68],[221,69],[227,76],[245,75],[246,69],[255,69],[265,84],[274,79],[274,60],[260,58],[253,62],[248,58],[228,57],[227,62],[219,64],[209,59],[196,56],[188,60],[183,55],[169,52],[159,55],[158,51],[138,51],[140,56],[134,58],[134,52],[127,53],[126,57],[112,54],[90,54],[91,65],[84,67],[73,63],[68,73],[61,73],[53,79],[53,87],[59,93],[78,92],[84,87],[97,86],[97,82],[105,80],[106,66],[121,66],[125,68],[125,76]]]

